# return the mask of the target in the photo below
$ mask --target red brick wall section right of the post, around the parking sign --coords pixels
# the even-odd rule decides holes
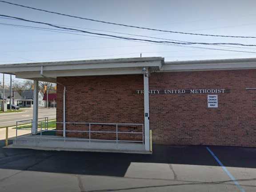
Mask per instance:
[[[150,89],[226,88],[218,108],[208,94],[150,96],[150,127],[157,144],[256,146],[256,70],[164,72],[149,79]]]

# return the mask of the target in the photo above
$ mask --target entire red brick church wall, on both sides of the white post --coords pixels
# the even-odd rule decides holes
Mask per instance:
[[[142,75],[59,77],[67,87],[67,122],[143,123]],[[208,94],[150,95],[150,128],[156,144],[256,146],[256,70],[152,73],[150,89],[225,88],[218,108],[207,107]],[[57,90],[57,121],[63,116],[63,88]],[[59,125],[58,128],[61,128]],[[88,130],[88,126],[67,125]],[[112,130],[97,126],[95,130]],[[123,128],[140,131],[139,128]],[[69,133],[69,136],[81,136]],[[83,137],[88,137],[84,133]],[[95,134],[115,139],[113,134]],[[140,138],[120,134],[122,140]]]

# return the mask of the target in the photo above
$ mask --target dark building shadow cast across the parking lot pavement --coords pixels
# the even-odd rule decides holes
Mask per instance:
[[[4,140],[0,140],[1,169],[123,177],[131,162],[219,166],[205,146],[154,145],[152,155],[40,151],[3,146]],[[227,167],[256,168],[256,148],[210,148]]]

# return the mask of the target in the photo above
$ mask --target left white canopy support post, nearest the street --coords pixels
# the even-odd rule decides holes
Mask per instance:
[[[33,93],[33,123],[32,123],[32,135],[37,134],[38,126],[38,80],[34,80],[34,93]]]

